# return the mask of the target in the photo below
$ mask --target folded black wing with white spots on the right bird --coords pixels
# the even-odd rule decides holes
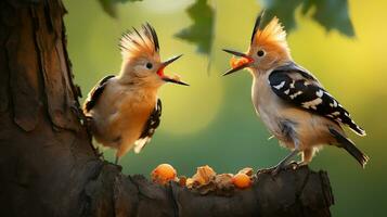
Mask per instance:
[[[358,135],[365,136],[365,131],[351,119],[349,112],[308,71],[296,64],[275,68],[269,75],[269,84],[282,100],[347,125]]]

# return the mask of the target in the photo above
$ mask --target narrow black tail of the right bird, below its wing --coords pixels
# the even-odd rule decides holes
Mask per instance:
[[[344,148],[364,168],[370,157],[365,155],[363,152],[361,152],[350,139],[344,137],[341,133],[339,133],[333,128],[330,128],[330,131],[336,138],[337,142],[340,144],[340,148]]]

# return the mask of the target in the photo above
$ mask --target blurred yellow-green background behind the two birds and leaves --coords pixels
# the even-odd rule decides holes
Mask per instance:
[[[118,38],[126,29],[150,22],[160,40],[162,59],[184,56],[167,68],[191,87],[166,85],[160,89],[164,113],[154,139],[141,154],[130,152],[120,164],[126,174],[149,175],[160,163],[173,165],[191,176],[208,164],[217,173],[235,173],[250,166],[275,165],[288,151],[279,148],[256,116],[250,102],[251,78],[247,72],[221,77],[230,55],[221,48],[246,50],[255,17],[261,5],[255,0],[209,1],[216,9],[210,55],[175,35],[193,23],[185,10],[194,0],[144,0],[118,4],[117,18],[103,11],[96,0],[64,0],[68,50],[76,82],[83,99],[99,79],[119,71]],[[343,150],[325,148],[311,168],[330,174],[336,205],[334,216],[385,216],[387,208],[387,1],[348,2],[354,37],[326,31],[302,9],[295,10],[297,28],[288,36],[293,58],[313,72],[363,126],[367,136],[349,132],[371,156],[362,169]],[[328,11],[335,14],[335,10]],[[331,15],[327,14],[327,17]],[[348,34],[347,34],[348,35]],[[350,35],[350,34],[349,34]],[[210,71],[207,72],[208,61]],[[82,99],[82,100],[83,100]],[[113,161],[114,152],[104,151]]]

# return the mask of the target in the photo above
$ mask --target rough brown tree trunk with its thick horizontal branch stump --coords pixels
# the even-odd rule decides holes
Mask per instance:
[[[60,0],[0,1],[1,216],[330,216],[326,173],[260,174],[230,196],[125,176],[82,126]]]

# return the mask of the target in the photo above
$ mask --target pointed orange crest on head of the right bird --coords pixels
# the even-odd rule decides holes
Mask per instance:
[[[281,49],[288,49],[286,42],[286,31],[279,22],[278,17],[274,16],[263,29],[259,29],[259,24],[256,26],[251,38],[251,46],[279,47]]]

